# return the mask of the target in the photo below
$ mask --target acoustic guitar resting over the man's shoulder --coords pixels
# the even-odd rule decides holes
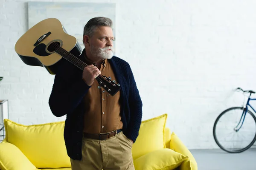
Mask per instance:
[[[56,18],[42,20],[26,31],[17,40],[15,51],[26,65],[44,67],[49,74],[56,74],[62,58],[81,70],[88,66],[76,57],[81,54],[81,47],[76,38],[67,34],[64,26]],[[111,81],[110,77],[100,74],[96,79],[112,96],[120,90],[120,85]]]

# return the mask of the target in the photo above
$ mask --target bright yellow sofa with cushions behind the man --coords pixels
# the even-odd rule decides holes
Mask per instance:
[[[132,148],[136,170],[197,170],[197,163],[178,136],[166,127],[167,114],[142,122]],[[4,120],[0,170],[71,170],[64,121],[21,125]]]

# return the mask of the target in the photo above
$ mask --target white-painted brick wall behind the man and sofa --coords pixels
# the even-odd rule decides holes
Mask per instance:
[[[54,76],[25,65],[14,50],[27,28],[25,2],[0,1],[0,99],[9,99],[9,118],[15,122],[64,120],[48,105]],[[143,119],[168,113],[167,126],[186,146],[217,147],[212,137],[216,117],[243,102],[232,90],[256,90],[256,1],[116,2],[116,53],[134,71]]]

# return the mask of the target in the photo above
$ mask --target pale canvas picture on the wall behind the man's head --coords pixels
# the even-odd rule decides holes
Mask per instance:
[[[93,17],[110,18],[116,36],[116,3],[28,2],[28,28],[52,17],[60,20],[67,34],[76,37],[82,49],[84,26]]]

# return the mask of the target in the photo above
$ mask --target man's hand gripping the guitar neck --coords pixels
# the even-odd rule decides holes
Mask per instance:
[[[101,74],[101,71],[95,65],[88,65],[83,71],[83,80],[87,85],[92,85],[94,79]]]

